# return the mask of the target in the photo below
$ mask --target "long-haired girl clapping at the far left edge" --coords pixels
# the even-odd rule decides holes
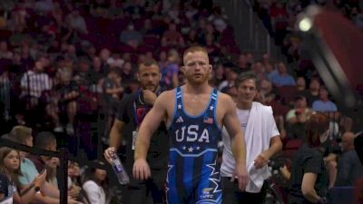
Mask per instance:
[[[20,196],[20,183],[18,177],[21,175],[19,152],[13,149],[0,148],[0,200],[10,199],[11,203],[27,204],[30,203],[39,189],[44,186],[46,171],[35,177],[31,185],[27,186],[24,194]],[[4,178],[4,176],[5,178]]]

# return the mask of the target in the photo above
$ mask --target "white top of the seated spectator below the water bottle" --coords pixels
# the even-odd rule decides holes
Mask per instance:
[[[106,195],[101,186],[97,185],[93,180],[87,180],[83,183],[83,189],[87,193],[90,204],[105,204]]]

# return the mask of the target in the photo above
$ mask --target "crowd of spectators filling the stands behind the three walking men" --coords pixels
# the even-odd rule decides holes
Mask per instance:
[[[296,59],[299,39],[292,25],[297,13],[309,4],[255,1],[256,11],[270,34],[282,45],[283,52]],[[334,4],[358,26],[362,25],[358,1]],[[172,89],[184,81],[181,53],[192,44],[207,48],[213,65],[210,82],[232,98],[236,96],[234,81],[239,73],[257,74],[260,91],[255,101],[272,106],[285,152],[299,148],[312,112],[329,115],[325,156],[330,188],[336,184],[339,163],[343,162],[338,159],[339,140],[359,131],[353,119],[339,112],[316,70],[296,74],[288,63],[272,59],[269,53],[254,56],[242,52],[227,17],[212,1],[3,0],[0,15],[0,133],[8,133],[8,139],[28,146],[33,146],[29,138],[36,135],[34,146],[55,151],[56,141],[59,145],[60,138],[68,136],[81,142],[71,144],[71,148],[81,145],[94,153],[101,138],[107,142],[120,100],[139,88],[137,64],[156,59],[162,72],[162,89]],[[33,133],[24,126],[31,127]],[[10,177],[19,176],[19,182],[12,184],[14,192],[7,193],[21,192],[31,183],[42,182],[43,186],[52,186],[41,188],[51,189],[42,191],[44,198],[59,199],[55,180],[59,160],[6,151],[0,154],[0,165],[5,165],[3,160],[10,154],[15,154],[12,157],[17,160],[13,170],[17,174],[11,172]],[[292,160],[292,155],[285,156]],[[99,163],[103,166],[102,161]],[[37,176],[43,169],[46,181]],[[111,200],[112,190],[107,187],[103,168],[85,169],[70,162],[68,175],[72,181],[70,203]],[[38,194],[29,196],[44,199]]]

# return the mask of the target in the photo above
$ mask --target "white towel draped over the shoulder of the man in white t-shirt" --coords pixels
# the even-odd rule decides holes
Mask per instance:
[[[263,181],[270,177],[268,166],[261,169],[254,167],[254,160],[263,151],[270,148],[270,135],[274,121],[271,121],[272,109],[260,102],[253,102],[250,109],[250,117],[244,134],[246,141],[246,165],[250,182],[246,187],[248,192],[260,192]],[[272,117],[273,120],[273,117]],[[273,123],[271,123],[273,122]],[[264,136],[264,137],[262,137]]]

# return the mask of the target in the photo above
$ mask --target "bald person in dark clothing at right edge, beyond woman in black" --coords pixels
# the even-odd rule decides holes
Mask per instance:
[[[354,147],[355,135],[345,132],[341,138],[342,155],[338,160],[338,177],[335,186],[354,186],[363,176],[363,165]]]

